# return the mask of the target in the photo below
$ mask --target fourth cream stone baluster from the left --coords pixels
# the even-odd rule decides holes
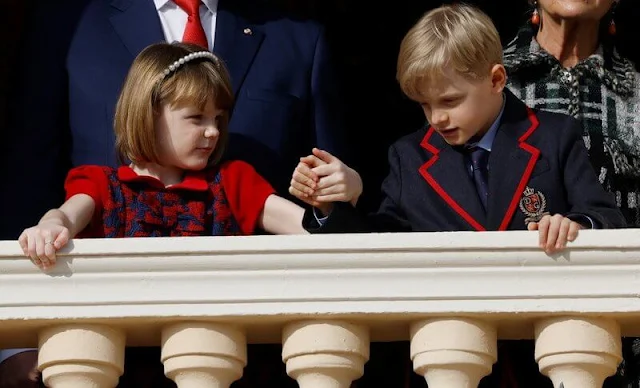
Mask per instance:
[[[497,361],[496,329],[465,318],[416,322],[411,326],[411,360],[429,388],[476,388]]]

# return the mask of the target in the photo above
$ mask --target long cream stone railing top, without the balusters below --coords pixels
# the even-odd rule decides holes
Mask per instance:
[[[431,315],[640,317],[640,230],[84,239],[42,273],[0,242],[0,325],[48,320]],[[636,325],[638,326],[638,325]]]

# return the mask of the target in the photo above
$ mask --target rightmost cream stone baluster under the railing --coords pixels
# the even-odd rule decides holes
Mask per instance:
[[[536,362],[559,388],[602,388],[622,361],[620,327],[614,320],[554,317],[535,325]]]

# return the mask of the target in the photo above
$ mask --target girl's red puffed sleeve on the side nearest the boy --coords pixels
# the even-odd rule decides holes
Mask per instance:
[[[225,163],[220,173],[229,207],[242,233],[253,234],[264,204],[275,190],[246,162]]]

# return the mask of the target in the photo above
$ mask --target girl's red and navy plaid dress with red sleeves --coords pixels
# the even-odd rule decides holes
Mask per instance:
[[[69,171],[65,190],[67,198],[89,195],[96,206],[80,238],[251,235],[274,193],[240,161],[189,171],[169,187],[128,166],[78,166]]]

